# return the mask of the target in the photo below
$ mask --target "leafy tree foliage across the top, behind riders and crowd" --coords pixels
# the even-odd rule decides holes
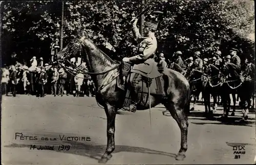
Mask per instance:
[[[61,20],[61,1],[5,1],[1,4],[2,55],[14,49],[30,58],[48,57],[50,44],[58,37],[56,24]],[[63,46],[82,31],[103,51],[105,41],[116,53],[113,58],[132,56],[136,52],[132,20],[141,11],[140,1],[65,1]],[[158,52],[168,58],[181,50],[185,56],[201,51],[209,57],[220,49],[227,52],[236,41],[244,52],[252,53],[246,37],[254,33],[253,1],[146,1],[146,6],[162,11],[156,36]],[[149,11],[145,16],[153,15]],[[221,40],[221,46],[216,44]],[[9,51],[8,51],[9,50]],[[49,52],[48,52],[49,51]],[[47,54],[47,55],[46,55]]]

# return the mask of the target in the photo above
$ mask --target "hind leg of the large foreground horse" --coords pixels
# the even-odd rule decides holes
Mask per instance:
[[[176,120],[180,127],[181,131],[181,148],[179,153],[176,155],[176,160],[183,160],[185,156],[185,152],[187,151],[187,129],[188,129],[188,122],[187,116],[185,115],[185,109],[181,109],[179,106],[175,104],[167,104],[165,103],[164,106],[170,114],[172,114],[173,118]],[[189,109],[189,107],[188,107]]]

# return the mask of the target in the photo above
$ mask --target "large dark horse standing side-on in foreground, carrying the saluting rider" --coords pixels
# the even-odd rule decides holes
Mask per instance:
[[[115,118],[119,108],[122,108],[122,100],[124,100],[125,93],[116,88],[116,78],[119,71],[120,64],[110,59],[103,53],[97,46],[87,39],[85,36],[78,36],[67,47],[63,48],[57,54],[57,61],[67,61],[67,58],[72,54],[78,54],[86,60],[89,74],[95,82],[96,87],[96,100],[105,109],[107,117],[107,130],[108,144],[105,153],[99,160],[100,163],[108,161],[115,149]],[[187,150],[187,113],[189,112],[189,84],[185,77],[180,73],[166,69],[162,75],[165,86],[165,96],[150,96],[151,106],[154,107],[159,103],[164,104],[173,118],[177,121],[181,130],[181,148],[176,155],[177,160],[185,158]],[[140,95],[140,94],[139,94]],[[140,96],[139,96],[140,97]],[[143,94],[144,99],[147,94]],[[139,105],[142,109],[150,107],[149,101],[146,104]]]

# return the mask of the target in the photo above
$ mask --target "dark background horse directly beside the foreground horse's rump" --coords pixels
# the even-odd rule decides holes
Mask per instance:
[[[193,111],[197,104],[197,98],[203,89],[202,72],[196,69],[192,69],[191,71],[186,72],[185,77],[187,78],[190,85],[190,100],[192,97],[194,98],[193,107],[190,109]]]

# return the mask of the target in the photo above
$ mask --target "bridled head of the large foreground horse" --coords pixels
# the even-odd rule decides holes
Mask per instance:
[[[81,44],[84,39],[85,37],[80,34],[75,37],[65,48],[57,53],[57,62],[76,57],[80,53]]]

